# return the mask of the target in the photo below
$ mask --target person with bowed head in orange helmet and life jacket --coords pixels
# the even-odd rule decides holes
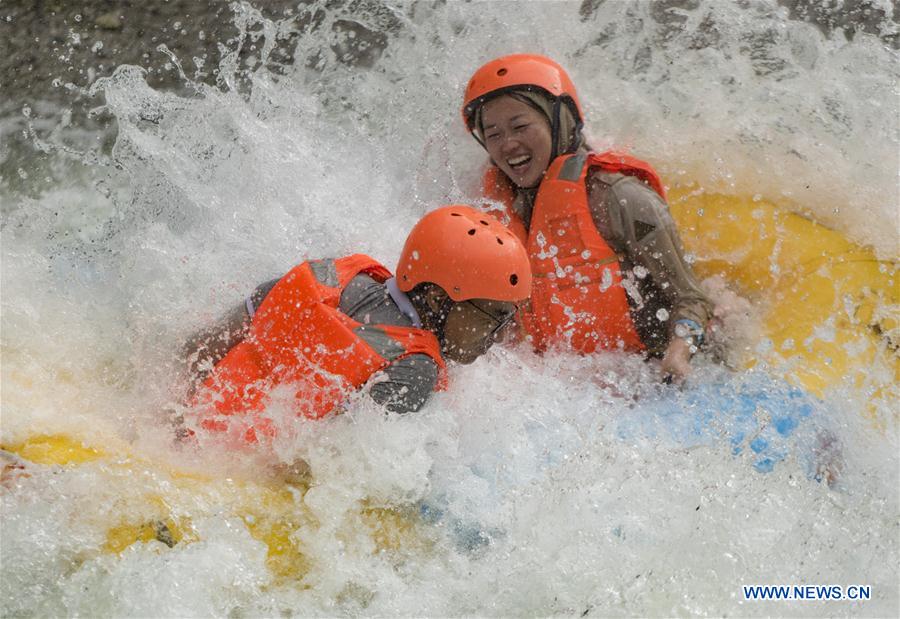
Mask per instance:
[[[396,276],[363,254],[307,260],[189,342],[195,391],[180,432],[266,442],[275,400],[318,419],[364,385],[389,411],[419,410],[445,359],[486,352],[530,292],[519,240],[464,205],[413,227]]]

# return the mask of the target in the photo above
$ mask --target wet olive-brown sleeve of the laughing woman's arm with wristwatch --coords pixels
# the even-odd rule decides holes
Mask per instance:
[[[684,258],[678,228],[662,198],[634,177],[606,174],[592,179],[590,194],[601,235],[615,251],[624,250],[635,267],[644,267],[669,301],[670,330],[682,319],[705,328],[712,317],[712,302]]]

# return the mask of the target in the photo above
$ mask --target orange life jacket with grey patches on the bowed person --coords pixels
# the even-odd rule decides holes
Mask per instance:
[[[319,419],[391,362],[421,353],[439,368],[446,384],[440,344],[429,331],[359,323],[338,309],[341,293],[365,273],[379,282],[391,277],[381,264],[354,254],[304,262],[266,295],[249,333],[216,364],[194,397],[199,426],[234,433],[248,443],[276,433],[263,416],[274,389],[285,387],[297,416]],[[285,394],[282,394],[285,395]]]

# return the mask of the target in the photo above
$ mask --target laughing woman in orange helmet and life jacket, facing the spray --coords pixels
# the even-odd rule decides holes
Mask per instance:
[[[643,352],[683,379],[712,304],[653,168],[585,143],[575,86],[543,56],[482,66],[462,113],[490,156],[485,195],[503,204],[528,250],[534,285],[520,318],[534,347]]]

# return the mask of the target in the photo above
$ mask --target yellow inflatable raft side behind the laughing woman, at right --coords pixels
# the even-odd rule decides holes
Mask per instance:
[[[888,404],[882,410],[900,398],[896,260],[877,259],[791,205],[699,185],[673,188],[669,203],[697,274],[722,275],[763,307],[768,341],[751,362],[818,396],[851,386]]]

